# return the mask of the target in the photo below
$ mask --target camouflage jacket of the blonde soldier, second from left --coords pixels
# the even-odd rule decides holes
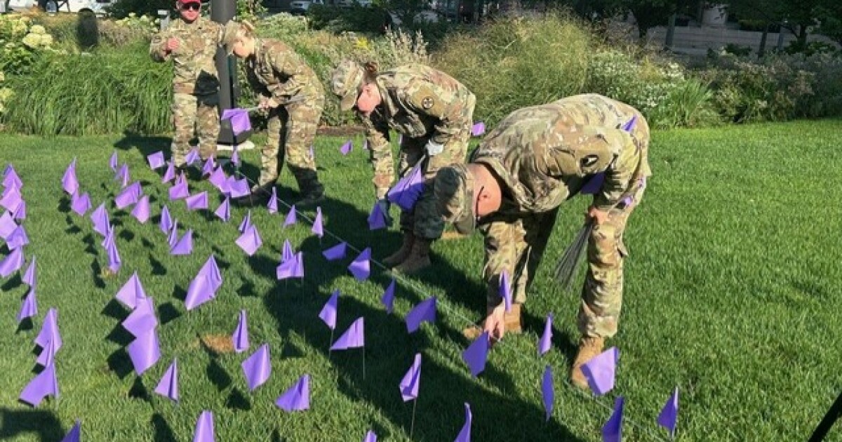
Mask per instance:
[[[254,40],[254,54],[246,59],[246,75],[255,91],[279,103],[296,95],[307,101],[324,99],[324,88],[316,72],[279,40]]]

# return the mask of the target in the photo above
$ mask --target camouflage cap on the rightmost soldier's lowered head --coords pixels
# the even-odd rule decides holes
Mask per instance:
[[[441,168],[435,175],[434,194],[436,208],[445,222],[456,231],[467,234],[476,226],[474,215],[473,174],[465,164]]]

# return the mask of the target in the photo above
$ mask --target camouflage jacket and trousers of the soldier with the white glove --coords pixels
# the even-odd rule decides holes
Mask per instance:
[[[411,64],[381,72],[376,78],[382,103],[364,118],[377,198],[389,191],[394,176],[389,129],[402,134],[398,170],[400,178],[412,172],[432,140],[444,150],[429,157],[424,168],[427,186],[412,211],[401,212],[401,230],[435,240],[445,224],[435,208],[433,179],[440,168],[465,162],[471,138],[474,94],[444,72]]]

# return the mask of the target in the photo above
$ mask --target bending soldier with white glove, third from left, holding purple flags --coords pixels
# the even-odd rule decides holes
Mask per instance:
[[[377,72],[374,63],[364,69],[343,61],[333,72],[331,87],[342,99],[341,109],[356,109],[365,125],[377,204],[384,213],[394,176],[390,128],[402,134],[401,177],[421,162],[427,186],[413,210],[401,212],[402,247],[383,263],[403,273],[424,269],[430,265],[430,244],[444,230],[432,183],[440,168],[465,162],[476,97],[445,72],[419,64]]]

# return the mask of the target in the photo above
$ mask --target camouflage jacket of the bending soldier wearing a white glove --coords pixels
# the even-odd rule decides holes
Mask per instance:
[[[389,129],[446,144],[473,124],[474,94],[445,72],[409,64],[377,76],[383,102],[363,124],[372,150],[389,148]]]

